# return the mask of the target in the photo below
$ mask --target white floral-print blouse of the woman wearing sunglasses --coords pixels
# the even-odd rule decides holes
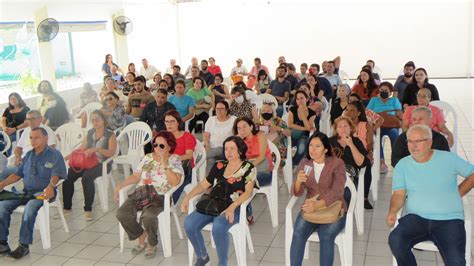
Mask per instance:
[[[171,168],[171,171],[181,175],[181,178],[184,178],[183,167],[178,155],[170,155],[168,158],[168,164]],[[156,192],[158,192],[160,195],[165,194],[172,188],[166,179],[165,169],[160,162],[153,159],[152,153],[149,153],[143,157],[135,172],[140,173],[141,176],[138,186],[153,185],[156,189]]]

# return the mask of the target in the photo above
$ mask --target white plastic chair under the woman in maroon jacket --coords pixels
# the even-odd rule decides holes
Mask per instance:
[[[354,209],[357,203],[357,197],[355,197],[356,188],[352,181],[346,179],[346,187],[351,191],[351,201],[347,208],[346,213],[346,225],[344,229],[337,235],[335,243],[339,248],[339,256],[341,260],[341,265],[352,265],[352,250],[353,250],[353,223],[354,223]],[[298,197],[292,196],[290,202],[286,206],[286,217],[285,217],[285,263],[290,265],[290,247],[291,240],[293,238],[293,207],[296,204]],[[305,259],[309,258],[309,242],[319,242],[318,233],[314,232],[306,242],[305,247]]]

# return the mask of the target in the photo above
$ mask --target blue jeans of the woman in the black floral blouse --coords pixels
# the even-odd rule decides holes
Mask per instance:
[[[202,237],[202,228],[209,223],[212,225],[212,237],[216,243],[219,265],[227,265],[229,255],[229,228],[239,222],[240,208],[234,212],[234,223],[230,224],[223,215],[211,216],[194,211],[184,219],[184,230],[189,241],[193,244],[194,252],[198,258],[207,256],[206,243]]]

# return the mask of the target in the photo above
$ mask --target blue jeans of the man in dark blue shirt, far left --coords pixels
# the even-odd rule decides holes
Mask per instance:
[[[0,241],[7,241],[12,212],[20,205],[26,205],[21,218],[21,244],[33,243],[33,230],[38,210],[43,206],[42,200],[4,200],[0,201]]]

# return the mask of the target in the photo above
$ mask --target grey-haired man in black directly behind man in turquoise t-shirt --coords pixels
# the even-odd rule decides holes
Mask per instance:
[[[429,107],[418,106],[415,110],[413,110],[411,118],[413,125],[426,125],[429,127],[431,125],[432,116],[433,114]],[[448,140],[443,135],[434,130],[431,130],[431,134],[433,136],[433,144],[431,146],[432,149],[449,151]],[[395,144],[393,144],[392,166],[395,168],[398,161],[408,155],[410,155],[410,152],[408,151],[407,134],[404,132],[397,137]]]

